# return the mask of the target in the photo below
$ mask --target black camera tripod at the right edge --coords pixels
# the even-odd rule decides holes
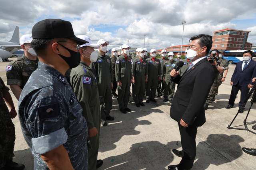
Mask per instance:
[[[252,130],[249,130],[248,127],[247,127],[247,124],[246,124],[246,119],[250,113],[250,110],[252,108],[252,104],[256,102],[256,85],[254,85],[251,89],[251,91],[248,93],[248,95],[246,96],[246,99],[244,99],[244,102],[242,103],[241,107],[238,109],[238,112],[236,113],[236,116],[234,117],[233,121],[230,123],[230,125],[228,125],[228,128],[230,129],[238,129],[238,130],[248,130],[249,132],[252,132],[254,134],[256,134],[256,132],[253,132]],[[253,93],[253,95],[252,95]],[[239,114],[240,110],[242,108],[244,108],[244,106],[246,105],[246,102],[249,100],[249,98],[251,97],[252,95],[252,100],[251,100],[251,105],[250,105],[250,108],[248,110],[248,113],[246,115],[246,118],[244,119],[244,127],[245,128],[234,128],[234,127],[230,127],[232,125],[232,123],[234,122],[234,120],[236,119],[237,115]]]

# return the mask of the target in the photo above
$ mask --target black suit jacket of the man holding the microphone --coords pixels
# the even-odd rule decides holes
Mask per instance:
[[[214,71],[207,58],[200,60],[182,77],[172,79],[178,84],[172,99],[170,116],[180,123],[202,126],[205,123],[204,103],[214,82]]]

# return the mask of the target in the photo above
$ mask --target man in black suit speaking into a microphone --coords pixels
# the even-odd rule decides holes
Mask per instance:
[[[178,122],[182,150],[172,151],[182,157],[178,165],[168,170],[190,170],[196,157],[197,128],[205,123],[204,103],[214,82],[214,71],[206,55],[212,47],[212,36],[200,34],[190,38],[187,58],[192,60],[187,71],[180,76],[173,69],[171,79],[178,84],[172,100],[170,116]]]

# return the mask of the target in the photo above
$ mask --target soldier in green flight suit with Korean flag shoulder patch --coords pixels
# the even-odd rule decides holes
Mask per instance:
[[[96,170],[102,164],[102,160],[97,160],[100,146],[100,98],[96,78],[89,65],[96,62],[100,44],[93,44],[88,36],[77,36],[87,41],[80,46],[79,52],[81,61],[79,65],[70,72],[70,83],[76,94],[79,104],[83,108],[83,115],[88,127],[88,169]]]

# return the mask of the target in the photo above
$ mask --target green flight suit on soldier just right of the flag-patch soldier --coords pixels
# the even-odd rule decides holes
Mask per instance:
[[[110,110],[112,107],[112,85],[113,79],[113,69],[111,59],[108,55],[103,56],[98,52],[98,59],[96,62],[91,63],[90,67],[94,73],[100,97],[100,113],[101,119],[106,120],[109,117]]]

